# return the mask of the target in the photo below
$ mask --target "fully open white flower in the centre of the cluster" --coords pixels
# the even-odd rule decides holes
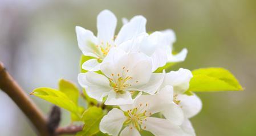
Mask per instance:
[[[151,59],[143,53],[126,53],[120,48],[109,51],[100,66],[105,75],[94,72],[80,73],[79,84],[87,94],[106,105],[132,104],[132,92],[143,91],[155,94],[164,74],[152,73]]]

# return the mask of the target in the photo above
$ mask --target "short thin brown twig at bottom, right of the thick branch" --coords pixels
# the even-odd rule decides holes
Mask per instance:
[[[79,131],[82,131],[83,126],[66,126],[66,127],[59,127],[55,130],[55,135],[60,134],[76,134]]]

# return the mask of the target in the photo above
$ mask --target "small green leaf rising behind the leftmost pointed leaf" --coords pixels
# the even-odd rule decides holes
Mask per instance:
[[[70,98],[70,100],[72,100],[75,104],[78,104],[79,90],[75,86],[75,84],[71,83],[68,80],[60,79],[59,91],[62,91]]]

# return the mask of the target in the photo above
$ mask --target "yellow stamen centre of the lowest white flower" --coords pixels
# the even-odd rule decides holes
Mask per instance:
[[[151,113],[148,113],[147,110],[144,110],[145,107],[148,107],[148,104],[145,104],[144,107],[142,106],[143,104],[140,104],[139,107],[129,109],[127,112],[125,112],[127,120],[124,122],[124,124],[131,125],[130,129],[133,129],[133,127],[139,131],[141,128],[146,129],[146,126],[143,124],[143,122],[147,121],[147,117],[151,116]]]

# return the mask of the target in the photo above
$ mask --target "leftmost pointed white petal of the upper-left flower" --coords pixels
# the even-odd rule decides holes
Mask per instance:
[[[83,54],[86,56],[95,56],[94,52],[98,52],[96,48],[97,39],[94,36],[94,33],[84,29],[82,27],[76,26],[76,36],[78,39],[78,46],[82,50]]]

